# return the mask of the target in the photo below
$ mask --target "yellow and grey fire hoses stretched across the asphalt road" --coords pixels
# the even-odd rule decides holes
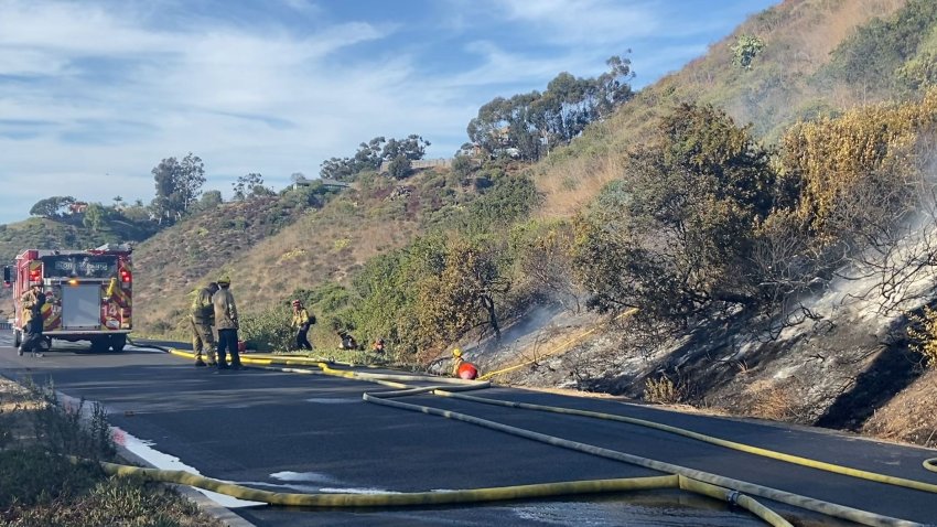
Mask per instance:
[[[168,349],[169,353],[192,357],[191,352],[179,349]],[[471,402],[485,405],[496,405],[509,408],[549,411],[556,413],[574,415],[580,417],[589,417],[594,419],[613,420],[637,424],[656,430],[682,435],[693,440],[707,442],[710,444],[720,445],[723,448],[737,450],[748,454],[761,455],[778,461],[785,461],[803,466],[810,466],[818,470],[823,470],[831,473],[859,477],[868,481],[874,481],[888,485],[903,486],[917,491],[937,493],[937,485],[907,480],[886,474],[879,474],[869,471],[861,471],[848,466],[836,465],[818,460],[800,458],[783,452],[762,449],[758,447],[728,441],[720,438],[706,435],[693,432],[691,430],[680,429],[663,423],[646,421],[623,416],[591,412],[585,410],[550,407],[542,405],[531,405],[524,402],[504,401],[498,399],[487,399],[482,397],[468,396],[461,394],[466,390],[477,390],[489,387],[489,383],[466,381],[461,379],[441,379],[431,376],[417,375],[395,375],[395,374],[378,374],[370,372],[355,372],[349,369],[337,369],[332,365],[319,359],[308,357],[293,356],[271,356],[271,355],[244,355],[241,361],[254,366],[277,369],[282,372],[301,373],[301,374],[319,374],[338,376],[349,379],[358,379],[370,383],[376,383],[390,388],[396,388],[394,391],[383,392],[365,392],[363,398],[367,402],[406,409],[409,411],[418,411],[427,415],[434,415],[449,419],[461,420],[476,426],[482,426],[504,433],[523,437],[526,439],[540,441],[547,444],[575,450],[592,455],[602,456],[620,462],[626,462],[638,466],[664,472],[669,475],[656,477],[637,477],[637,478],[621,478],[621,480],[595,480],[595,481],[578,481],[578,482],[561,482],[546,483],[536,485],[520,485],[510,487],[494,487],[494,488],[475,488],[465,491],[448,491],[448,492],[429,492],[429,493],[387,493],[387,494],[286,494],[258,491],[246,486],[233,485],[229,483],[212,480],[195,474],[180,471],[160,471],[155,469],[139,469],[123,465],[106,464],[105,469],[117,475],[140,474],[162,482],[180,483],[184,485],[196,486],[230,496],[249,499],[255,502],[270,503],[277,505],[295,505],[311,507],[380,507],[380,506],[412,506],[412,505],[439,505],[454,503],[478,503],[493,502],[504,499],[520,499],[534,497],[550,497],[572,494],[602,493],[602,492],[624,492],[624,491],[640,491],[650,488],[682,488],[689,492],[703,494],[717,499],[726,501],[744,507],[752,512],[769,525],[790,525],[776,513],[765,508],[751,496],[764,497],[775,502],[793,505],[807,510],[812,510],[827,516],[848,519],[863,525],[870,526],[918,526],[922,524],[882,516],[874,513],[860,510],[852,507],[847,507],[838,504],[827,503],[814,499],[807,496],[771,488],[767,486],[748,483],[740,480],[729,478],[703,471],[698,471],[671,463],[666,463],[647,458],[618,452],[614,450],[603,449],[595,445],[569,441],[562,438],[547,435],[530,430],[519,429],[504,423],[482,419],[466,413],[454,412],[440,408],[412,405],[402,402],[402,397],[416,395],[434,395],[439,397],[456,398]],[[303,367],[304,366],[304,367]],[[414,387],[407,383],[429,381],[434,383],[432,386]],[[928,460],[930,462],[930,460]],[[925,462],[925,466],[928,464]],[[744,494],[741,494],[744,493]]]

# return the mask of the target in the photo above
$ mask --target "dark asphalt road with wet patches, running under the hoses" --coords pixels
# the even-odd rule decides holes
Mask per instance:
[[[18,357],[0,336],[0,374],[52,379],[60,391],[100,401],[111,424],[202,474],[281,492],[419,492],[657,475],[654,471],[362,400],[370,383],[250,369],[214,373],[163,353]],[[825,430],[688,415],[625,404],[493,388],[489,398],[656,420],[739,442],[937,484],[920,462],[937,451]],[[877,514],[937,520],[937,497],[821,473],[642,427],[506,409],[433,396],[406,402],[451,409]],[[764,502],[764,501],[763,501]],[[782,512],[789,510],[780,507]],[[235,509],[258,526],[286,525],[761,525],[711,501],[676,493],[589,496],[403,509]],[[842,525],[833,523],[833,525]]]

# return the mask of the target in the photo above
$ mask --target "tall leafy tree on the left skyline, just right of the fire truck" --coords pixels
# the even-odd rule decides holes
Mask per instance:
[[[152,170],[157,183],[153,215],[160,225],[173,224],[189,213],[205,184],[205,163],[192,152],[177,161],[166,158]]]

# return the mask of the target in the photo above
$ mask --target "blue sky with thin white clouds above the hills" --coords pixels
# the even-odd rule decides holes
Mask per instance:
[[[149,203],[152,168],[189,152],[226,198],[377,136],[450,157],[494,97],[628,49],[642,87],[775,3],[0,0],[0,224],[55,195]]]

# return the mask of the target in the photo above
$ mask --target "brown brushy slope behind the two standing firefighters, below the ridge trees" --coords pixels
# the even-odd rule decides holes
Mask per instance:
[[[322,208],[277,208],[277,197],[229,203],[141,244],[136,302],[141,332],[187,338],[189,294],[224,272],[246,313],[284,305],[293,291],[347,282],[375,255],[399,248],[476,195],[433,170],[405,182],[364,175]],[[272,221],[282,228],[271,232]]]

